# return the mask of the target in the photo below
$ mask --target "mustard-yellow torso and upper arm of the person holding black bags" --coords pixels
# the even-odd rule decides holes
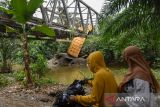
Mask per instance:
[[[97,104],[95,107],[104,106],[104,95],[109,93],[117,93],[118,86],[113,73],[108,68],[102,68],[95,74],[93,86],[97,86]],[[98,105],[98,106],[97,106]]]

